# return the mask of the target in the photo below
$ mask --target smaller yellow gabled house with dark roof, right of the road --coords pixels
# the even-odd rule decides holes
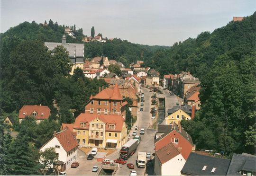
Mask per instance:
[[[174,106],[175,107],[175,106]],[[191,109],[189,108],[182,108],[178,106],[179,109],[168,109],[167,114],[168,116],[165,117],[165,124],[170,124],[173,121],[177,124],[184,119],[184,120],[191,120]]]

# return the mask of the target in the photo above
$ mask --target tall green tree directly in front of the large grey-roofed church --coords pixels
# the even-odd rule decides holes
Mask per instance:
[[[68,52],[64,46],[57,46],[53,51],[53,61],[55,63],[55,72],[63,76],[68,76],[71,69],[72,63],[68,58]]]

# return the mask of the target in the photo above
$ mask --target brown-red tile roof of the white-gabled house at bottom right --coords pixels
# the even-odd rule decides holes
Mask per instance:
[[[180,152],[175,149],[172,143],[169,143],[165,147],[155,151],[155,155],[157,156],[157,158],[159,158],[161,164],[165,164],[167,161],[176,157],[179,154]]]

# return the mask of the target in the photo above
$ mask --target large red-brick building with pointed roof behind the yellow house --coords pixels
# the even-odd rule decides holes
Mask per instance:
[[[85,114],[118,114],[125,119],[127,101],[116,84],[113,88],[99,88],[99,93],[85,104]]]

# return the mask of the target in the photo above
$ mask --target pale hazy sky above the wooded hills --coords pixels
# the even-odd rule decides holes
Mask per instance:
[[[256,0],[0,0],[0,32],[52,19],[88,36],[94,26],[95,35],[172,46],[255,11]]]

